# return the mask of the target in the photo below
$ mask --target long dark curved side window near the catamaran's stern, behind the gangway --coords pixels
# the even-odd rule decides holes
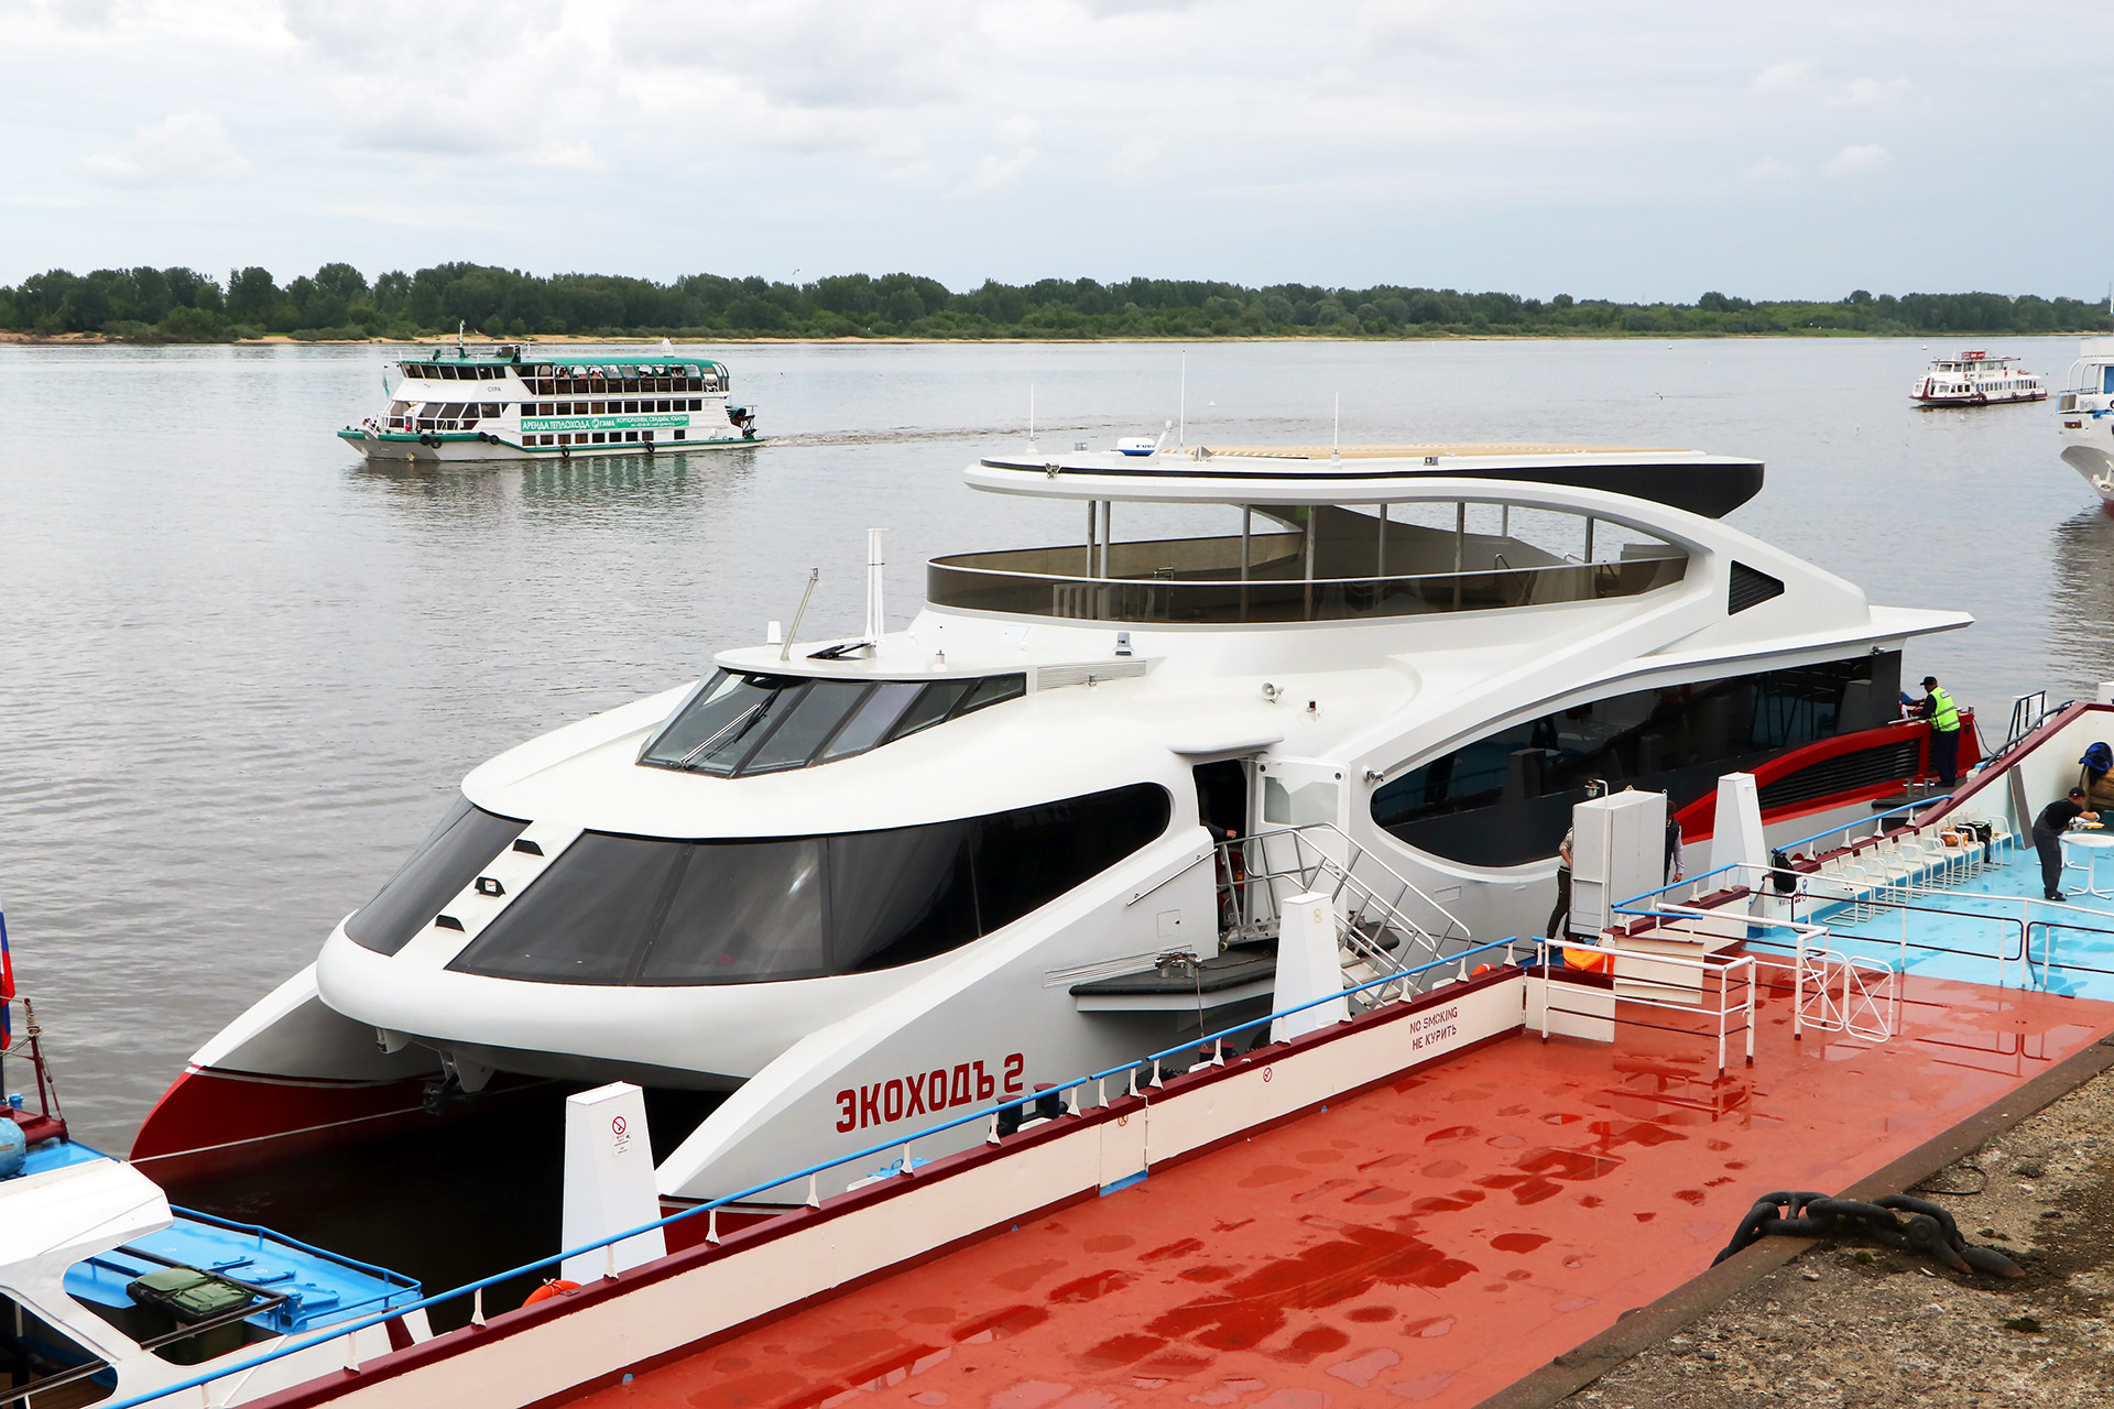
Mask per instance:
[[[1372,820],[1471,866],[1550,858],[1588,782],[1666,792],[1681,809],[1723,773],[1892,718],[1898,678],[1898,655],[1862,655],[1609,695],[1410,769],[1372,794]]]

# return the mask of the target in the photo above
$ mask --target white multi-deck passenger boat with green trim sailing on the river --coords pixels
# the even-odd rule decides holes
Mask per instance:
[[[662,351],[440,346],[383,376],[389,406],[338,439],[370,461],[655,454],[757,444],[725,363]]]

